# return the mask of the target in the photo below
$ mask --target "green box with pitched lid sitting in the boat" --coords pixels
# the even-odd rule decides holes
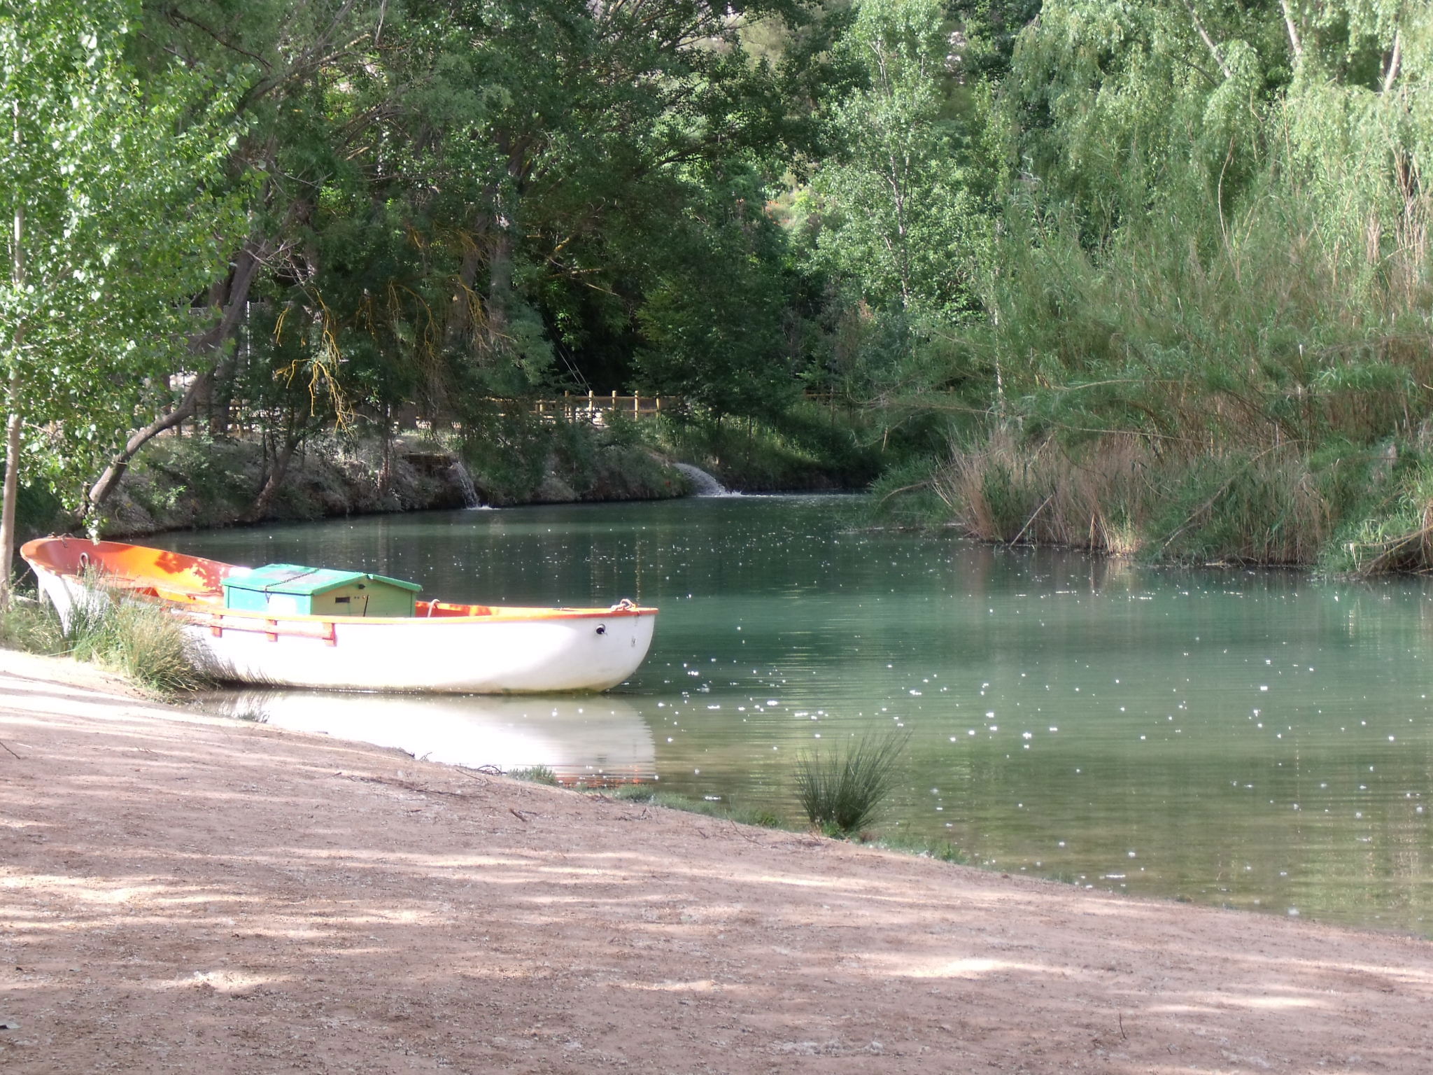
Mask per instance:
[[[301,616],[411,616],[416,582],[361,570],[267,563],[224,580],[225,608]]]

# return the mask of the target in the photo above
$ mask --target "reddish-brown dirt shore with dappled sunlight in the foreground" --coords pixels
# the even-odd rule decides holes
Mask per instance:
[[[1422,939],[195,720],[0,652],[4,1072],[1424,1072]]]

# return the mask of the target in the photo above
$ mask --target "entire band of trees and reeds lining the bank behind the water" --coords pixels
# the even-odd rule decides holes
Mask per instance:
[[[1406,0],[4,0],[0,559],[315,457],[408,506],[421,429],[494,503],[682,459],[1427,569],[1430,53]],[[514,417],[563,391],[682,404]]]

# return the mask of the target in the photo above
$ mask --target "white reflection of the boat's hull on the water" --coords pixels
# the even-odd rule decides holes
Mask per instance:
[[[416,758],[506,771],[545,765],[562,783],[653,780],[656,747],[641,714],[610,695],[416,695],[215,691],[222,717],[396,747]]]

